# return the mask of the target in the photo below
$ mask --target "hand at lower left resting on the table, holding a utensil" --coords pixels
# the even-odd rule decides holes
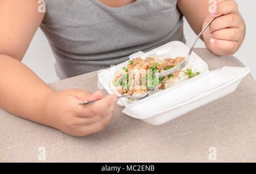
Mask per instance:
[[[102,92],[90,93],[81,89],[55,92],[46,104],[46,125],[73,136],[85,136],[100,131],[113,118],[117,96],[109,95],[102,100],[79,105],[86,100],[102,98]]]

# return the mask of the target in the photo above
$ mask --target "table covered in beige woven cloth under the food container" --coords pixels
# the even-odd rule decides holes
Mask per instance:
[[[244,66],[233,56],[205,48],[195,52],[210,70]],[[97,72],[92,72],[49,85],[94,92],[96,84]],[[80,138],[0,109],[0,162],[256,162],[256,84],[250,74],[229,96],[164,125],[149,125],[122,109],[117,106],[104,130]],[[46,160],[38,158],[44,152],[40,147]]]

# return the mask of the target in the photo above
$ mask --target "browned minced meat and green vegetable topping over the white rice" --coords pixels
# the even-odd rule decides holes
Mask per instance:
[[[176,57],[176,59],[168,58],[159,60],[152,57],[147,57],[146,59],[141,59],[141,57],[138,57],[130,60],[127,67],[122,68],[122,72],[117,72],[114,86],[117,87],[117,92],[123,96],[133,96],[146,93],[148,90],[152,89],[156,83],[158,83],[159,89],[165,89],[166,82],[168,80],[172,80],[171,77],[177,77],[180,71],[159,79],[155,78],[155,74],[174,68],[184,59],[184,57]],[[193,76],[193,74],[191,74],[192,71],[189,72],[189,70],[187,70],[187,73],[190,76]],[[136,81],[138,81],[138,83]]]

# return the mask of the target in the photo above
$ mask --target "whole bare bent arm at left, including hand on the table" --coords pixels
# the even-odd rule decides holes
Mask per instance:
[[[113,117],[116,96],[79,106],[81,101],[101,98],[102,92],[55,92],[20,62],[44,17],[37,2],[0,1],[0,107],[75,136],[100,131]]]

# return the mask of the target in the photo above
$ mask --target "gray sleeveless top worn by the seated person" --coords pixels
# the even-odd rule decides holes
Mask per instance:
[[[97,0],[46,0],[40,26],[62,78],[108,68],[172,40],[184,42],[177,0],[137,0],[108,7]]]

